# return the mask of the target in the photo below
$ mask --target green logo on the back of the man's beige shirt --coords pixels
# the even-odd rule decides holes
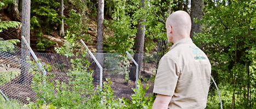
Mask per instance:
[[[194,46],[194,47],[189,46],[189,47],[192,49],[192,53],[194,54],[195,62],[206,61],[206,57],[203,56],[203,52],[198,47],[196,47],[196,46]]]

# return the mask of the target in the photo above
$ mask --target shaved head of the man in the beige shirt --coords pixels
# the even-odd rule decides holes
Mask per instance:
[[[166,28],[172,28],[172,39],[177,41],[183,38],[190,38],[191,18],[185,11],[175,11],[166,20]],[[168,30],[167,30],[168,37]],[[174,43],[171,41],[172,43]]]

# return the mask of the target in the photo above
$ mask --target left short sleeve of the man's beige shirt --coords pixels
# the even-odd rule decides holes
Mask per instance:
[[[172,57],[163,56],[158,65],[153,93],[173,96],[178,78],[178,63]]]

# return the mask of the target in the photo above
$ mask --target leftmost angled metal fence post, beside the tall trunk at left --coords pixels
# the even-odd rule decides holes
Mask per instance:
[[[42,64],[38,61],[38,58],[37,58],[35,52],[31,49],[29,43],[27,43],[27,41],[26,41],[26,39],[25,39],[25,37],[24,37],[23,35],[21,36],[21,39],[24,41],[24,43],[25,43],[25,45],[27,46],[27,48],[29,48],[30,53],[32,54],[33,58],[36,60],[36,63],[37,63],[38,66],[39,66],[39,69],[41,69],[41,70],[43,71],[43,76],[45,76],[45,75],[46,75],[46,71],[44,70],[44,68],[42,68]],[[43,87],[45,87],[45,84],[46,84],[46,83],[45,83],[45,80],[43,80],[43,83],[44,83],[44,86],[43,86]],[[44,101],[44,102],[45,102],[45,101]]]

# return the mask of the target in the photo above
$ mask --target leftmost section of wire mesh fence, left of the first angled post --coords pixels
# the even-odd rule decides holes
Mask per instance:
[[[35,91],[31,88],[33,75],[29,73],[30,60],[25,50],[8,41],[0,40],[0,89],[8,98],[27,103],[26,98],[36,100]],[[28,53],[27,53],[28,54]]]

